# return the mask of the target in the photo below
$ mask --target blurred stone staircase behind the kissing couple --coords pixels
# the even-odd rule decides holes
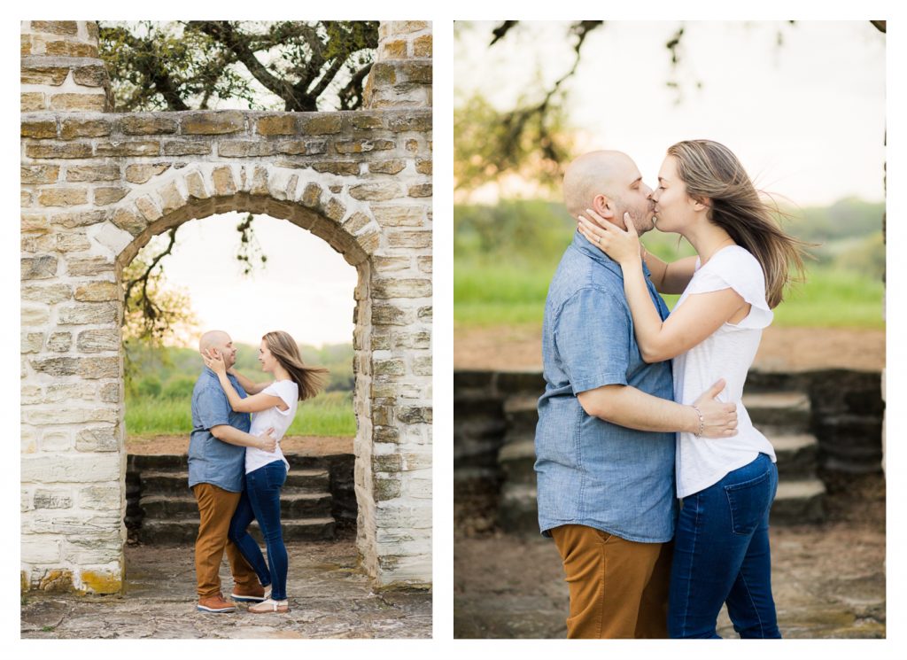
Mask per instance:
[[[756,428],[772,442],[777,457],[778,492],[772,524],[822,520],[825,489],[815,474],[819,444],[809,432],[809,397],[796,391],[754,390],[744,396],[744,405]],[[537,403],[535,393],[513,394],[503,403],[506,431],[498,451],[503,475],[498,523],[512,533],[539,531],[533,469]]]

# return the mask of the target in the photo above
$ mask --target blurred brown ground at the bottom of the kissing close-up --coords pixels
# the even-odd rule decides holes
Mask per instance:
[[[771,530],[778,625],[787,638],[885,636],[882,475],[825,475],[827,519]],[[569,594],[551,539],[503,534],[493,510],[454,505],[453,636],[563,638]],[[726,613],[718,634],[736,637]]]

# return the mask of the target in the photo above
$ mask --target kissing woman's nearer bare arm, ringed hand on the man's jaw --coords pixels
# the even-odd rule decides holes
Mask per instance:
[[[689,296],[677,311],[662,321],[649,296],[639,257],[639,236],[629,214],[624,214],[627,231],[615,227],[592,210],[587,210],[587,214],[597,220],[598,230],[589,220],[580,218],[580,232],[620,264],[624,295],[633,317],[633,332],[646,362],[662,362],[688,351],[746,305],[743,296],[734,289],[720,289]]]

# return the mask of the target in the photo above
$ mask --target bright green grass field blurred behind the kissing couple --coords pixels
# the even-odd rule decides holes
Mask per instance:
[[[502,266],[454,259],[453,322],[457,327],[541,325],[549,267]],[[854,271],[812,267],[775,309],[775,325],[883,328],[883,285]],[[673,306],[678,296],[665,296]]]

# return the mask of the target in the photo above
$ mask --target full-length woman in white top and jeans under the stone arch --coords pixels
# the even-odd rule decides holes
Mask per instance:
[[[228,537],[255,569],[263,587],[270,594],[262,602],[249,607],[253,614],[289,611],[287,599],[287,547],[280,528],[280,489],[287,480],[289,463],[280,451],[279,441],[287,432],[296,414],[297,403],[315,396],[323,385],[327,369],[303,364],[299,348],[288,333],[270,332],[261,338],[258,362],[262,371],[272,374],[272,383],[253,383],[233,369],[239,384],[249,393],[240,398],[227,377],[228,371],[219,354],[204,355],[205,365],[218,374],[220,386],[227,394],[230,407],[236,412],[251,412],[250,433],[273,428],[278,441],[273,452],[246,448],[246,483],[236,512],[230,519]],[[259,431],[260,430],[260,431]],[[249,523],[258,520],[258,527],[268,548],[268,563],[249,535]]]

